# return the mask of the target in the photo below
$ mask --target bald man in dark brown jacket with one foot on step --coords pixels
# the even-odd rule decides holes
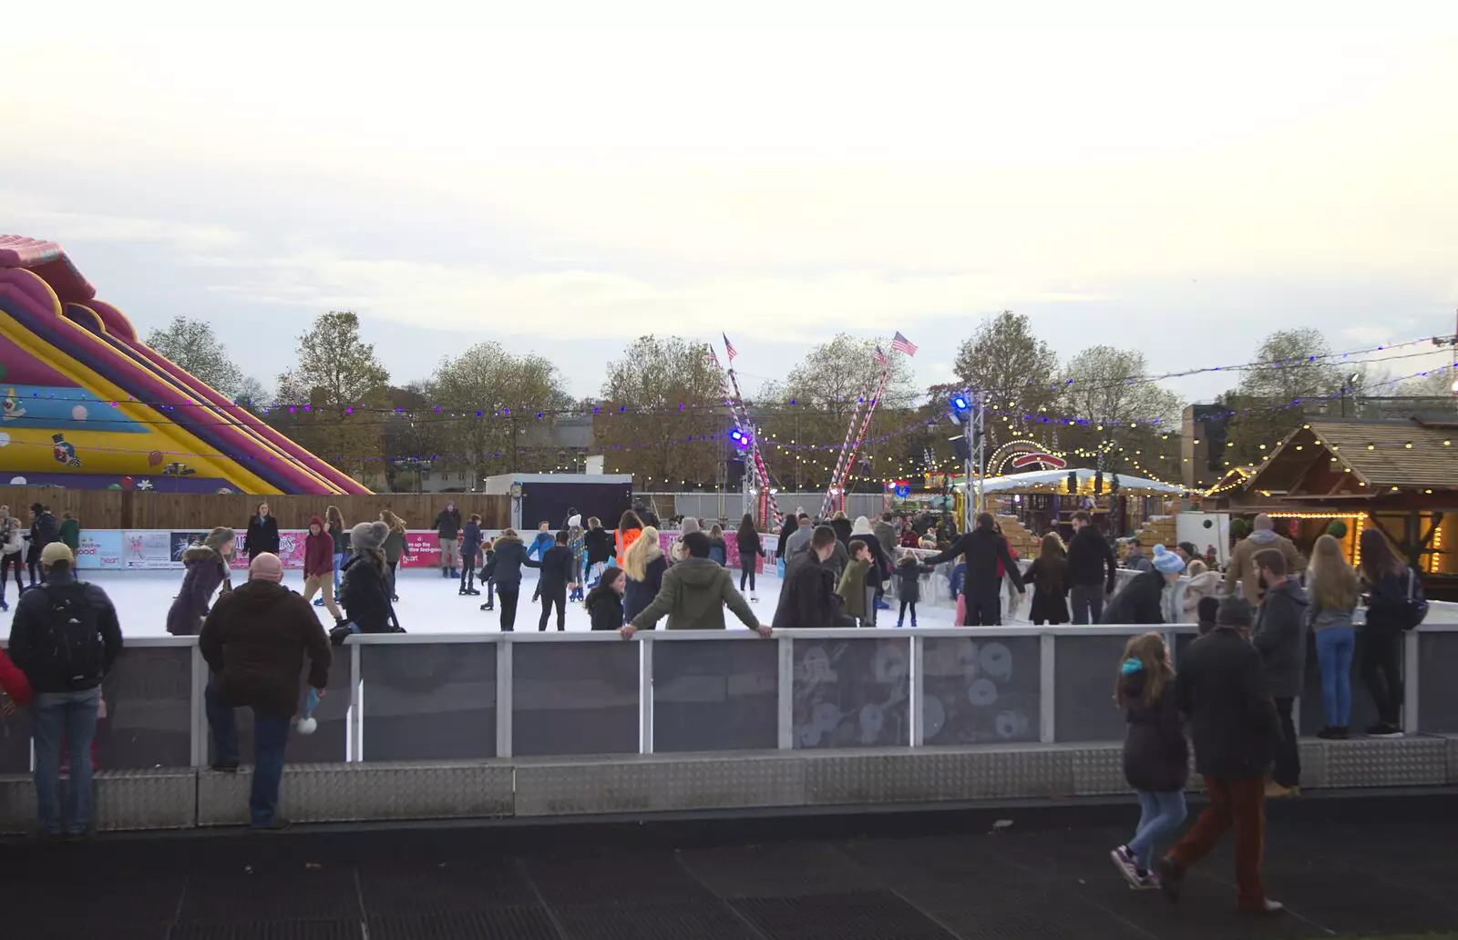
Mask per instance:
[[[213,673],[204,704],[213,727],[213,769],[238,771],[235,708],[254,710],[254,783],[248,800],[254,829],[283,829],[276,815],[289,723],[299,710],[299,675],[309,656],[309,685],[324,695],[330,684],[330,638],[308,600],[278,581],[278,555],[254,555],[248,583],[219,598],[203,622],[198,651]]]

